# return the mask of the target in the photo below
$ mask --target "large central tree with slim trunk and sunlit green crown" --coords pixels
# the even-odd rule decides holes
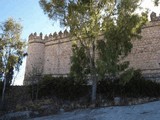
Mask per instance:
[[[69,26],[72,39],[75,40],[71,68],[75,68],[77,60],[83,61],[84,64],[79,66],[80,71],[74,73],[78,75],[87,70],[86,75],[92,80],[92,102],[96,100],[98,77],[109,72],[117,73],[120,56],[122,58],[130,52],[131,39],[138,37],[144,24],[141,22],[143,17],[134,13],[139,1],[40,0],[49,18],[59,19],[62,25]]]

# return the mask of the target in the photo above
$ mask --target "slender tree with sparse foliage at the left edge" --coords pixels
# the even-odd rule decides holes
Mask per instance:
[[[6,86],[12,83],[14,71],[22,64],[25,42],[21,40],[22,26],[9,18],[1,26],[0,33],[0,73],[3,80],[2,102]]]

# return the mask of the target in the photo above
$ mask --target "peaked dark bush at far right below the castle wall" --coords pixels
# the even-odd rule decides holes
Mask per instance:
[[[124,92],[133,97],[159,97],[160,83],[145,80],[140,71],[135,71],[132,79],[124,86]]]

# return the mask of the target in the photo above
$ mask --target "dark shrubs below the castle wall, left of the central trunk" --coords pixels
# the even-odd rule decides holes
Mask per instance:
[[[89,87],[75,82],[73,78],[53,78],[44,76],[39,83],[39,97],[58,97],[64,100],[77,100],[88,95]]]

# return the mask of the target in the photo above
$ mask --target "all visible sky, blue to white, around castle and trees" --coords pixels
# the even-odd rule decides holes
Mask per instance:
[[[160,14],[160,6],[154,7],[153,0],[143,0],[142,7],[149,8]],[[40,32],[50,34],[64,30],[58,22],[50,20],[39,5],[39,0],[0,0],[0,24],[8,18],[19,21],[23,26],[22,39],[27,41],[31,33]],[[26,59],[20,67],[20,72],[15,75],[14,85],[22,85],[25,73]]]

